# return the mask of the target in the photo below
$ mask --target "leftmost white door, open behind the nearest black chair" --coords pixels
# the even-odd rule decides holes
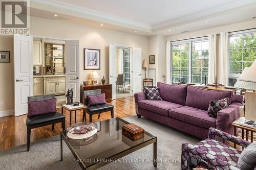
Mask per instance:
[[[15,116],[28,113],[28,96],[33,96],[33,37],[13,36]]]

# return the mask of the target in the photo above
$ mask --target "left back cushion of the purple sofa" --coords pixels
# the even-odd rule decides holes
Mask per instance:
[[[158,82],[157,87],[159,87],[162,100],[185,106],[187,86],[176,86]]]

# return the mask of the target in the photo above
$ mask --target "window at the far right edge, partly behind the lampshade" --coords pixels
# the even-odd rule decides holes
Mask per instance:
[[[256,30],[229,33],[229,86],[256,59]]]

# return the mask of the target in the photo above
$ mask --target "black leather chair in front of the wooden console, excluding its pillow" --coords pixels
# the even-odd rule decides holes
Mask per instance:
[[[88,106],[87,95],[101,94],[101,90],[100,89],[86,90],[86,91],[83,91],[83,94],[84,94],[84,103],[83,104]],[[88,106],[88,108],[86,109],[86,112],[89,114],[90,122],[92,122],[94,114],[99,114],[98,118],[100,118],[100,113],[107,112],[107,111],[110,111],[111,117],[114,118],[114,106],[113,105],[102,104],[102,105],[96,105],[96,106]],[[86,113],[83,112],[82,121],[84,121],[84,119],[86,119]]]

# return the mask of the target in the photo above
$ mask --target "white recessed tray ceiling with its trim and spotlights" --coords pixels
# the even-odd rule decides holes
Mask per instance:
[[[144,36],[175,35],[256,16],[256,0],[31,0],[30,7],[32,16]]]

